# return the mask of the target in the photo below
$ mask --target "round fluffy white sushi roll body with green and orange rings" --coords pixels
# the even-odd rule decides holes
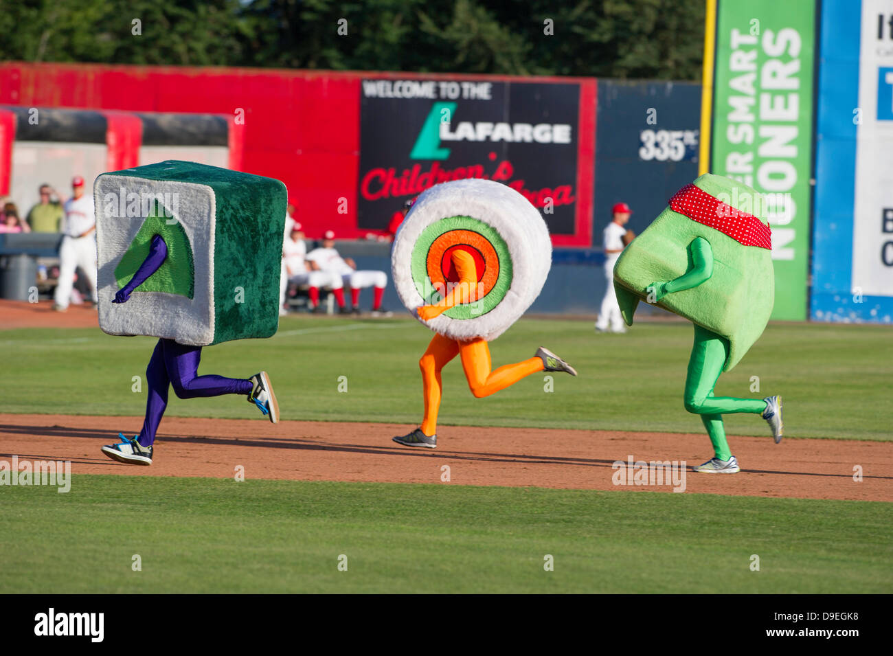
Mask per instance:
[[[447,291],[449,253],[474,255],[478,298],[430,321],[416,309]],[[511,187],[463,179],[422,193],[397,231],[391,269],[400,300],[413,316],[442,336],[496,339],[536,300],[552,266],[546,222]],[[439,286],[438,286],[439,285]]]

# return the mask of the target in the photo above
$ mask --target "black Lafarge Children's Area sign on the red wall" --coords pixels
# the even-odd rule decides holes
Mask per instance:
[[[440,182],[492,179],[573,235],[580,85],[463,79],[364,79],[357,224],[384,229]]]

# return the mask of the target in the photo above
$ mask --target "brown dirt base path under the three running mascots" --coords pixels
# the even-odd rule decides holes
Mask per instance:
[[[151,467],[105,458],[124,428],[142,417],[0,414],[0,458],[71,461],[73,473],[126,476],[245,477],[474,486],[616,490],[614,461],[687,461],[712,453],[703,435],[551,429],[443,427],[437,450],[391,442],[408,426],[247,419],[164,419]],[[893,444],[843,440],[731,439],[744,469],[736,475],[689,472],[689,493],[893,501]],[[861,465],[864,479],[855,482]],[[670,492],[672,486],[629,486]]]

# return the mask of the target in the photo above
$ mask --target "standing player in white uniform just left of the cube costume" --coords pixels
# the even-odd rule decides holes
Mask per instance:
[[[74,270],[80,267],[87,277],[96,303],[96,211],[93,195],[84,193],[84,179],[71,180],[72,196],[63,205],[65,216],[62,231],[65,237],[59,248],[59,284],[55,288],[54,310],[65,311],[71,301]]]

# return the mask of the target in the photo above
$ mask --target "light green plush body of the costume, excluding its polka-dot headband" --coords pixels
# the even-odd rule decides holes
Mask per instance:
[[[764,203],[747,203],[759,195],[752,187],[706,173],[694,182],[733,208],[753,213],[764,225]],[[730,199],[730,200],[726,200]],[[655,305],[729,340],[723,366],[730,371],[763,334],[775,300],[772,252],[746,246],[715,228],[674,212],[667,206],[632,240],[614,266],[614,289],[623,320],[632,325],[640,300],[655,281],[680,278],[691,265],[689,244],[705,238],[713,251],[713,274],[704,284],[667,295]]]

